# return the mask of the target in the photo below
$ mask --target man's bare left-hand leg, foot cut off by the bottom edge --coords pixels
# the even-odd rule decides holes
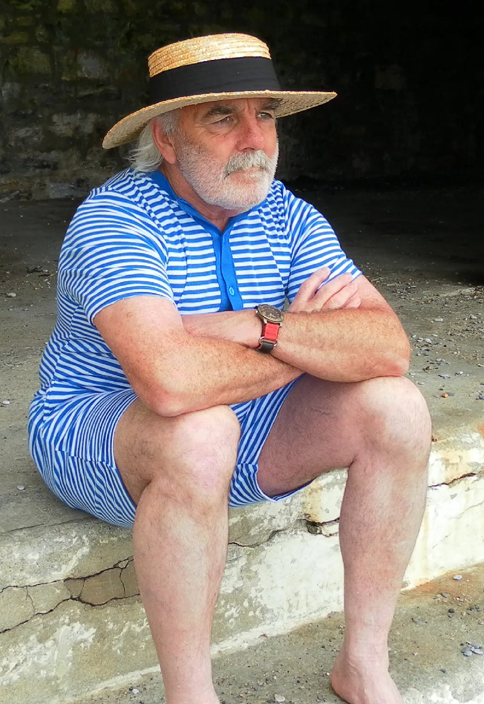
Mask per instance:
[[[218,703],[210,634],[238,434],[225,406],[162,418],[139,401],[117,427],[117,464],[137,503],[136,576],[168,704]]]

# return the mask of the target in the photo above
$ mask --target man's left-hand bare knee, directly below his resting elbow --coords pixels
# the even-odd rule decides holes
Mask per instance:
[[[170,419],[160,438],[162,461],[153,482],[163,493],[190,503],[227,497],[237,458],[240,426],[228,406],[215,406]]]

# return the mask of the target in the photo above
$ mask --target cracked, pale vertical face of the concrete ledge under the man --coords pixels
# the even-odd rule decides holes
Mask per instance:
[[[338,517],[345,471],[284,505],[231,512],[214,652],[284,633],[343,607]],[[484,561],[484,438],[455,434],[433,446],[428,505],[408,589]],[[55,501],[52,498],[52,501]],[[157,670],[132,565],[131,534],[78,520],[0,536],[0,697],[60,704]]]

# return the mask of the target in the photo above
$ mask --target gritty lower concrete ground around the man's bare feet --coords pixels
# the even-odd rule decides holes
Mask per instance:
[[[405,704],[484,704],[484,657],[464,656],[484,641],[484,565],[442,575],[400,596],[390,633],[390,672]],[[340,613],[214,658],[222,702],[340,704],[329,672],[343,639]],[[159,672],[132,677],[76,704],[161,704]],[[277,698],[276,698],[277,697]]]

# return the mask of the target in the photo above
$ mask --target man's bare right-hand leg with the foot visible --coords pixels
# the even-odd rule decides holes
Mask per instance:
[[[260,455],[260,486],[273,496],[349,467],[340,515],[346,629],[331,684],[350,704],[403,701],[387,639],[424,512],[430,441],[425,402],[407,379],[303,377]]]

